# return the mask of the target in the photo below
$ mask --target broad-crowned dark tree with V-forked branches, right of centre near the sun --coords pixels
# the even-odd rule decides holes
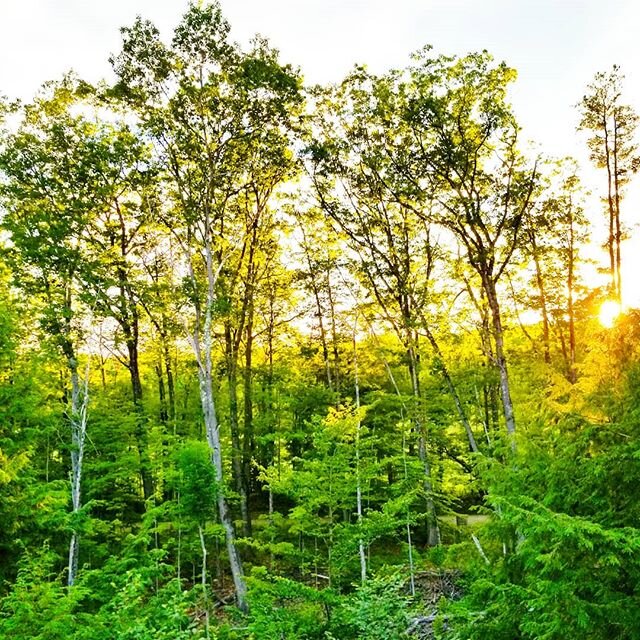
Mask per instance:
[[[400,197],[449,230],[477,273],[491,313],[495,364],[507,431],[515,433],[498,283],[518,243],[536,188],[537,168],[518,149],[506,102],[515,72],[485,52],[462,58],[416,56],[396,89],[404,128],[396,162]],[[412,205],[415,206],[415,205]]]

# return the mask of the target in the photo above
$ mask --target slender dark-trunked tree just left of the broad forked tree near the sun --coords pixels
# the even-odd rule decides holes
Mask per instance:
[[[372,82],[361,72],[325,94],[316,130],[311,133],[310,174],[320,207],[334,222],[336,232],[344,234],[354,254],[351,267],[406,349],[430,514],[428,537],[430,544],[437,545],[440,533],[433,501],[418,345],[418,320],[426,303],[425,283],[431,275],[433,247],[428,231],[424,232],[412,210],[398,206],[393,194],[388,193],[384,174],[389,167],[384,146],[380,148],[371,140],[376,136],[384,139],[386,133],[376,127],[368,108],[371,96],[367,85]]]

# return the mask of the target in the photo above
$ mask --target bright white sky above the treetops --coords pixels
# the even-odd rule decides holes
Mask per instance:
[[[379,72],[402,66],[426,44],[446,54],[487,49],[518,71],[511,101],[526,138],[585,167],[575,105],[596,71],[619,64],[625,98],[640,111],[637,0],[222,0],[221,6],[235,40],[266,36],[309,83],[339,81],[356,63]],[[119,27],[139,14],[169,37],[185,8],[186,0],[0,0],[0,94],[29,99],[69,69],[88,81],[109,77]],[[604,177],[588,170],[585,177],[597,193]],[[634,228],[638,190],[640,180],[625,205]],[[593,202],[597,209],[595,195]],[[640,229],[635,235],[640,242]],[[640,273],[632,242],[625,248],[627,282]]]

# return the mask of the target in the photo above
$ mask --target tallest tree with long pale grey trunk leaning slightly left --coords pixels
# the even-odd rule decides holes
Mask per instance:
[[[264,41],[256,40],[243,53],[230,44],[228,34],[217,4],[191,5],[170,47],[148,21],[138,19],[123,29],[123,48],[113,63],[120,93],[138,113],[166,172],[171,208],[165,221],[181,247],[188,273],[190,341],[221,487],[220,522],[238,604],[246,608],[242,565],[222,489],[213,347],[220,321],[225,344],[235,346],[233,336],[227,335],[236,294],[234,264],[250,250],[252,231],[271,193],[291,171],[289,127],[300,95],[296,74],[278,62]],[[229,355],[227,366],[235,363],[235,355]],[[240,460],[237,442],[233,449],[234,459]],[[237,476],[240,470],[235,471]],[[246,496],[244,500],[246,505]]]

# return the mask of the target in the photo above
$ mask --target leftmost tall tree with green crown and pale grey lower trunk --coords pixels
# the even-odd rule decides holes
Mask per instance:
[[[71,502],[74,522],[68,583],[73,585],[79,554],[81,481],[87,430],[88,379],[79,349],[87,307],[80,295],[91,268],[83,239],[95,216],[110,206],[114,160],[108,125],[78,115],[79,85],[73,78],[46,86],[24,108],[17,131],[4,142],[0,167],[16,284],[41,301],[45,335],[63,356],[68,389],[66,419],[71,431]]]

